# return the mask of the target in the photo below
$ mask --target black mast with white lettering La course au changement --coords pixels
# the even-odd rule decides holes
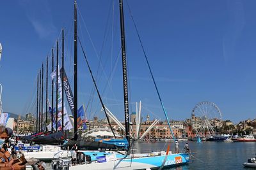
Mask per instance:
[[[119,7],[120,7],[120,27],[121,27],[122,61],[123,61],[125,138],[126,138],[127,141],[128,141],[128,146],[130,146],[129,103],[128,103],[127,63],[126,63],[126,52],[125,52],[125,33],[124,33],[124,10],[123,10],[123,0],[119,0]]]

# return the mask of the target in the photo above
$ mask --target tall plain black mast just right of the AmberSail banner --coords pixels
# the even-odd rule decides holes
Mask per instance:
[[[74,3],[74,140],[77,140],[77,8]]]

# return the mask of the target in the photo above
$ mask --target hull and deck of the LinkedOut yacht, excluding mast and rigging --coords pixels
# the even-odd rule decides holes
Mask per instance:
[[[67,160],[70,160],[69,162]],[[165,163],[163,164],[163,162]],[[53,169],[151,169],[172,167],[189,161],[187,153],[134,153],[131,156],[116,152],[81,151],[77,152],[77,164],[71,166],[71,159],[52,162]],[[65,163],[63,163],[65,162]],[[58,168],[57,168],[58,167]]]

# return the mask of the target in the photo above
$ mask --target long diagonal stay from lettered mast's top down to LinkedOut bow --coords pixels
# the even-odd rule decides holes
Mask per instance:
[[[160,94],[159,94],[159,91],[158,91],[158,89],[157,89],[156,81],[155,81],[155,79],[154,79],[154,76],[153,76],[151,67],[150,67],[150,65],[149,65],[149,62],[148,62],[148,58],[147,58],[145,49],[144,49],[144,47],[143,47],[143,45],[142,45],[142,41],[141,41],[141,38],[140,38],[140,34],[139,34],[138,29],[137,29],[137,26],[136,26],[136,24],[135,24],[134,18],[132,17],[132,13],[131,13],[131,9],[130,9],[130,7],[129,7],[129,4],[128,4],[127,1],[126,1],[126,3],[127,3],[128,8],[129,8],[129,12],[130,12],[130,15],[131,15],[131,18],[132,18],[132,22],[133,22],[134,27],[135,27],[136,32],[137,32],[137,36],[138,36],[138,38],[139,38],[139,40],[140,40],[140,45],[141,45],[141,48],[142,48],[142,50],[143,50],[144,57],[145,57],[145,59],[146,59],[146,61],[147,61],[148,69],[149,69],[149,71],[150,71],[152,80],[153,80],[153,82],[154,82],[154,86],[155,86],[156,91],[157,91],[157,96],[158,96],[159,101],[160,101],[160,103],[161,103],[161,106],[162,106],[162,108],[163,108],[164,115],[165,115],[166,121],[168,122],[168,126],[169,126],[169,128],[170,128],[170,131],[172,132],[172,138],[173,138],[173,140],[175,141],[174,134],[173,134],[173,131],[172,131],[172,127],[171,127],[171,125],[170,125],[170,122],[169,122],[168,115],[167,115],[167,113],[166,113],[166,110],[165,110],[165,108],[164,108],[163,101],[162,101],[161,96],[160,96]]]

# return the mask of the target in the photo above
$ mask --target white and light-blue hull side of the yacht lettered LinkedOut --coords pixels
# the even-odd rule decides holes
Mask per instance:
[[[110,162],[95,162],[91,164],[83,164],[77,166],[69,167],[70,170],[75,169],[158,169],[162,166],[166,155],[161,156],[151,156],[151,157],[140,157],[140,158],[128,158],[119,159]],[[173,167],[186,164],[189,162],[189,154],[187,153],[177,153],[167,156],[164,167]]]

